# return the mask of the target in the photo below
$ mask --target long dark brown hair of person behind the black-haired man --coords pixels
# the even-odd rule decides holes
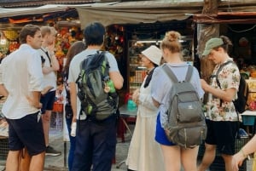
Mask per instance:
[[[63,71],[68,71],[70,62],[73,59],[73,57],[76,54],[79,54],[80,52],[82,52],[85,48],[86,46],[83,41],[77,41],[71,45],[71,47],[67,51],[67,55],[66,55],[67,60],[66,60],[65,66],[63,67]]]

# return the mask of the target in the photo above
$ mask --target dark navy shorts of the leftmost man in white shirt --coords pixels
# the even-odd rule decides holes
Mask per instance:
[[[20,119],[7,119],[9,123],[9,150],[20,151],[26,146],[28,154],[38,155],[45,151],[44,130],[39,112]]]

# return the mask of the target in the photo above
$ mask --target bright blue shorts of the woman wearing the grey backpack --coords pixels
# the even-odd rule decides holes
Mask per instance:
[[[156,140],[160,145],[169,145],[169,146],[176,145],[167,139],[165,129],[162,128],[160,123],[160,113],[158,114],[156,119],[154,140]]]

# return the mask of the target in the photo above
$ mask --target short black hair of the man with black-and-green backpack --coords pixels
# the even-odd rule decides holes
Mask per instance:
[[[84,29],[84,40],[87,46],[102,45],[104,41],[105,27],[99,22],[93,22]]]

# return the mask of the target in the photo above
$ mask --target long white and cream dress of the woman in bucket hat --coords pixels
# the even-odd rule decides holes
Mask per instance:
[[[145,82],[146,78],[144,79]],[[144,85],[143,82],[143,85]],[[151,98],[151,83],[140,88],[137,121],[131,138],[126,164],[138,171],[165,170],[160,144],[154,140],[157,108]]]

